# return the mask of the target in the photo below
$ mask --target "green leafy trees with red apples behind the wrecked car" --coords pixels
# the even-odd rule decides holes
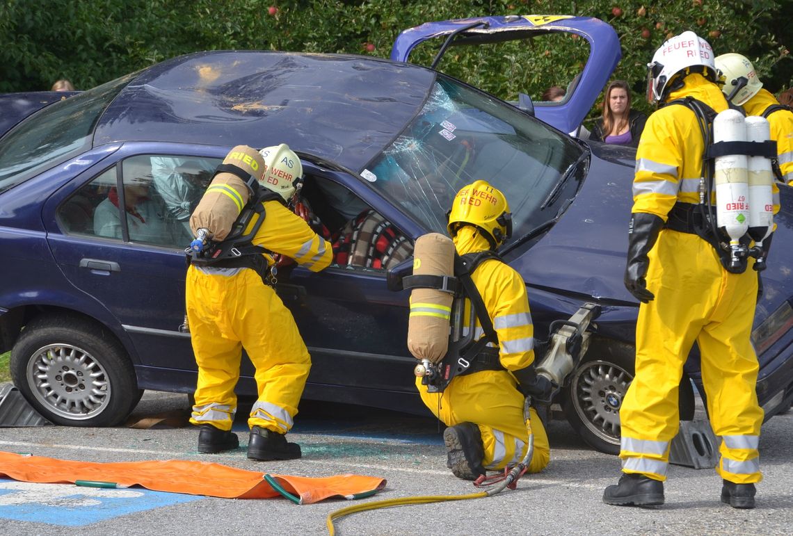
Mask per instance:
[[[272,2],[272,3],[268,3]],[[79,89],[163,59],[217,49],[340,52],[388,57],[403,29],[480,15],[577,14],[617,31],[623,59],[614,78],[644,91],[646,63],[668,36],[692,29],[717,54],[752,59],[772,91],[791,86],[788,0],[6,0],[0,3],[0,91],[48,90],[57,78]],[[271,10],[270,8],[274,8]],[[270,13],[272,11],[272,13]],[[788,40],[783,42],[783,39]],[[411,59],[428,65],[440,40]],[[465,50],[467,49],[467,50]],[[584,40],[452,48],[439,68],[515,100],[566,85],[588,56]],[[642,98],[637,107],[649,110]],[[593,110],[592,117],[597,114]]]

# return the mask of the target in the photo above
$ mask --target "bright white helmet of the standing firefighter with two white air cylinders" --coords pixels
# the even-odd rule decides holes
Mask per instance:
[[[664,101],[669,91],[683,86],[686,75],[695,72],[711,82],[717,80],[713,48],[689,30],[666,40],[647,63],[647,100]]]

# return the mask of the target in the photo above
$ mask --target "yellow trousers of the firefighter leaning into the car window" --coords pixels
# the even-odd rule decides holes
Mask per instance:
[[[187,320],[198,365],[190,422],[231,430],[244,347],[259,389],[248,426],[285,434],[292,428],[311,368],[308,350],[292,313],[255,270],[215,270],[187,270]]]

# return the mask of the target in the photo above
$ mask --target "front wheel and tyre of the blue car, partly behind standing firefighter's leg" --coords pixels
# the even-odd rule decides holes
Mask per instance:
[[[562,396],[570,426],[584,442],[606,454],[619,454],[619,408],[634,379],[635,349],[627,343],[595,339],[571,373]],[[680,381],[680,419],[694,417],[694,390]]]

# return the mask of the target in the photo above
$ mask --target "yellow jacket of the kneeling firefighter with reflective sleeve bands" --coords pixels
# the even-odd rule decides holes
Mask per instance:
[[[465,226],[454,237],[459,255],[477,253],[490,248],[487,239],[470,226]],[[498,335],[501,365],[508,370],[524,369],[534,362],[534,324],[529,312],[526,283],[511,266],[496,259],[481,263],[471,277],[477,286],[488,316]],[[468,318],[470,302],[466,302]],[[484,335],[479,319],[476,320],[477,339]]]

